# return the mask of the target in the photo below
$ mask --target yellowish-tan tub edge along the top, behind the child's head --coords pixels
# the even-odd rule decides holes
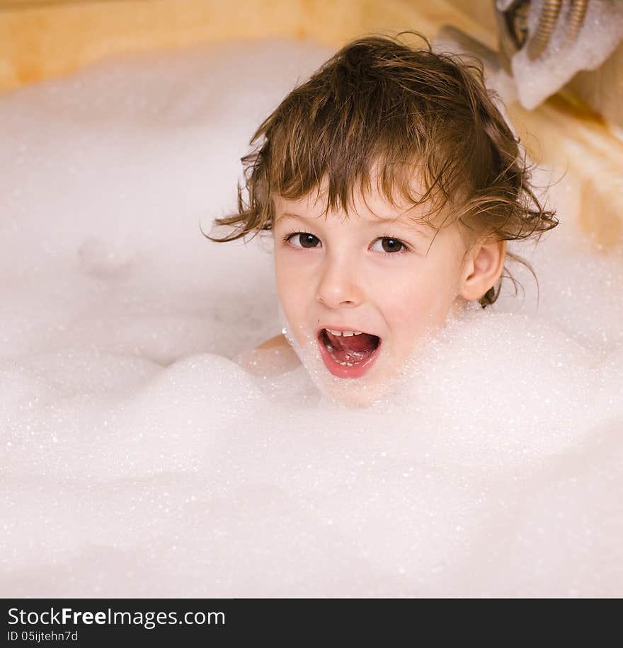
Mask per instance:
[[[339,47],[370,31],[432,37],[446,22],[494,45],[493,33],[445,0],[0,0],[0,88],[117,52],[270,36]]]

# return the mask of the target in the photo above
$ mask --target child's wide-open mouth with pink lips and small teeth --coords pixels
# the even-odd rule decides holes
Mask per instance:
[[[359,331],[331,331],[323,328],[318,340],[326,368],[338,378],[359,378],[378,355],[381,338]]]

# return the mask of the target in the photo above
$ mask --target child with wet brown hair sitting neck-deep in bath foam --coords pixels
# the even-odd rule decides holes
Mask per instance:
[[[247,195],[239,187],[238,213],[217,220],[236,230],[212,240],[272,233],[285,328],[247,365],[302,361],[336,400],[382,393],[449,318],[496,301],[505,257],[520,260],[506,241],[558,222],[481,65],[428,41],[350,42],[251,144]]]

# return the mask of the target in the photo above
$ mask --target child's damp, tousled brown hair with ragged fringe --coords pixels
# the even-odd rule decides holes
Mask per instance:
[[[253,135],[255,149],[241,158],[238,213],[215,221],[235,231],[207,238],[234,241],[270,230],[273,195],[299,199],[320,192],[323,183],[325,213],[348,215],[355,188],[370,192],[373,167],[391,204],[397,191],[410,203],[430,205],[428,224],[449,205],[475,238],[516,241],[554,228],[558,220],[530,186],[519,139],[484,85],[481,62],[437,54],[414,35],[425,47],[385,36],[350,42],[292,90]],[[504,270],[516,294],[517,282]],[[496,301],[500,283],[481,297],[483,307]]]

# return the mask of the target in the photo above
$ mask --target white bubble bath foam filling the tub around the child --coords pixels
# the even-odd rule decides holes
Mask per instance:
[[[621,593],[623,262],[564,184],[516,246],[538,308],[515,269],[525,298],[452,323],[399,399],[232,361],[281,330],[272,258],[199,225],[327,55],[125,57],[0,100],[6,596]]]

